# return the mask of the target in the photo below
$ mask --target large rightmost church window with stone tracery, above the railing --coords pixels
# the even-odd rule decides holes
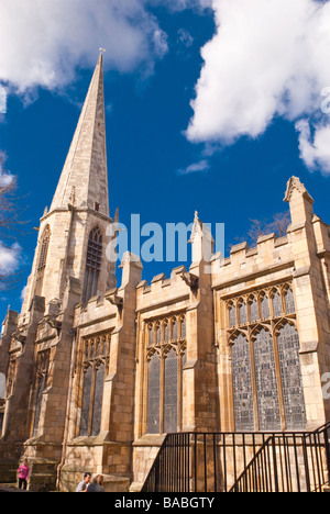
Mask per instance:
[[[228,300],[227,312],[235,429],[305,429],[306,407],[292,284]]]

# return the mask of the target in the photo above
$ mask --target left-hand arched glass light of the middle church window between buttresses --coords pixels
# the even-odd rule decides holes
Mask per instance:
[[[161,359],[154,354],[148,362],[147,433],[160,434]]]

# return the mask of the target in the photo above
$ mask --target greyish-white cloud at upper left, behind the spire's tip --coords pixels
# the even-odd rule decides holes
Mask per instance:
[[[11,91],[66,86],[100,46],[108,69],[123,72],[167,51],[145,0],[0,0],[0,82]]]

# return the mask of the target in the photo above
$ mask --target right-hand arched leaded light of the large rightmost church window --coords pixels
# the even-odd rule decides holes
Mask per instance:
[[[306,409],[299,358],[299,335],[286,323],[277,337],[285,418],[288,429],[306,428]]]

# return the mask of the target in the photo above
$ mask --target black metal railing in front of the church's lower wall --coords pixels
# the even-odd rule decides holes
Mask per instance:
[[[322,491],[329,436],[330,423],[310,433],[168,434],[142,491]]]

